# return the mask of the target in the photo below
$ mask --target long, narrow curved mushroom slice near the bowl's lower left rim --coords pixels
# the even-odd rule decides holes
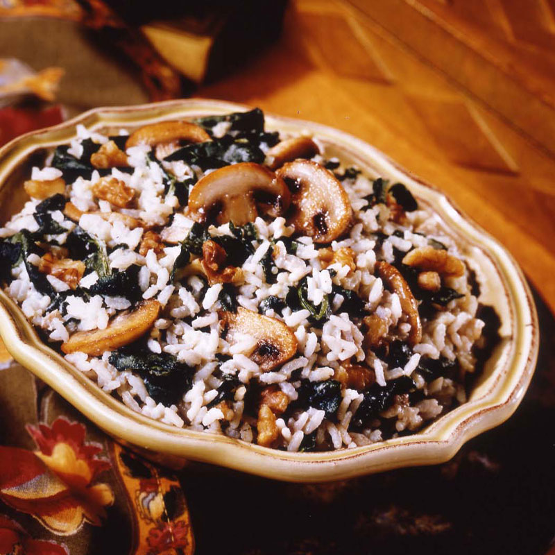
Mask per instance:
[[[118,314],[104,330],[89,330],[74,333],[65,343],[62,351],[86,352],[87,355],[99,357],[106,351],[111,351],[139,339],[154,325],[160,312],[160,302],[144,300],[135,309]]]

